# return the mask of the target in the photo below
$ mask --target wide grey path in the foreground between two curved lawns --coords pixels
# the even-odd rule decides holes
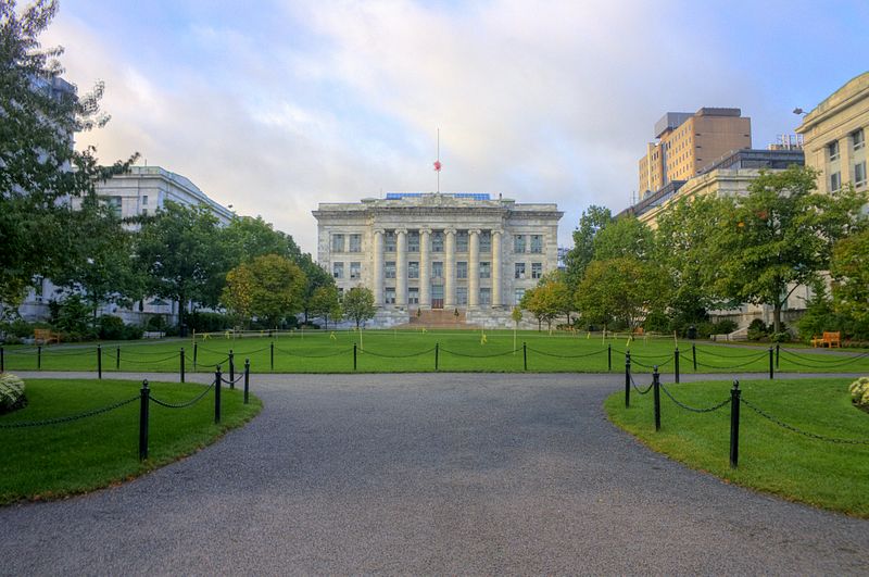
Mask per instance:
[[[207,450],[0,509],[0,574],[869,574],[869,522],[725,485],[612,426],[620,375],[252,381],[262,414]]]

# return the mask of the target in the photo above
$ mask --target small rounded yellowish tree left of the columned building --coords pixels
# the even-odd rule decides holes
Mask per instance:
[[[307,284],[294,262],[278,254],[256,256],[226,275],[222,301],[245,322],[256,317],[267,327],[277,326],[285,317],[302,310],[302,296]]]

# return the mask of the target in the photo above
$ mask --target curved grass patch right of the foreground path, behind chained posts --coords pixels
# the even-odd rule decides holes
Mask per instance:
[[[817,435],[869,441],[869,414],[854,407],[851,379],[751,380],[742,396],[779,419]],[[667,385],[684,404],[705,407],[729,398],[731,385]],[[714,413],[679,409],[662,391],[655,432],[652,393],[606,399],[609,418],[651,449],[729,482],[815,506],[869,517],[869,446],[837,444],[789,431],[741,404],[739,467],[730,468],[730,405]]]

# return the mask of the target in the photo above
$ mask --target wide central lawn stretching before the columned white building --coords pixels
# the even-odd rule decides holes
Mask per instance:
[[[241,371],[244,359],[250,358],[252,371],[272,371],[270,343],[275,346],[274,371],[276,373],[352,373],[353,344],[357,344],[356,371],[358,372],[430,372],[434,371],[434,346],[439,346],[438,368],[459,372],[521,372],[524,369],[522,342],[527,342],[528,371],[530,372],[587,372],[600,373],[608,369],[608,349],[612,347],[614,372],[625,369],[625,336],[602,340],[600,335],[570,335],[545,331],[519,331],[514,352],[514,336],[511,330],[487,331],[481,342],[478,330],[428,331],[418,330],[364,330],[362,342],[355,331],[295,333],[268,337],[225,339],[221,337],[191,340],[138,341],[102,347],[103,372],[179,371],[179,349],[186,351],[186,371],[214,371],[221,363],[227,371],[226,356],[235,352],[237,371]],[[121,362],[117,363],[117,348]],[[694,373],[692,343],[680,341],[680,371]],[[673,371],[672,338],[641,338],[629,346],[634,373],[648,373],[655,364],[663,373]],[[35,348],[7,348],[7,371],[96,371],[97,349],[93,344],[61,344],[42,349],[41,362]],[[853,353],[854,354],[854,353]],[[857,353],[860,354],[860,353]],[[824,352],[813,354],[804,351],[782,351],[777,371],[790,372],[869,372],[869,354],[855,359]],[[713,342],[696,344],[697,373],[766,372],[769,356],[766,348],[734,348]]]

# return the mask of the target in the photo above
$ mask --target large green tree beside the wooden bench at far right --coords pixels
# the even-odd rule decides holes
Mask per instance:
[[[715,292],[741,302],[772,306],[773,330],[798,285],[829,268],[833,243],[847,235],[866,203],[848,186],[815,192],[817,172],[792,166],[761,172],[741,197],[722,199],[722,218],[709,246],[720,276]]]

